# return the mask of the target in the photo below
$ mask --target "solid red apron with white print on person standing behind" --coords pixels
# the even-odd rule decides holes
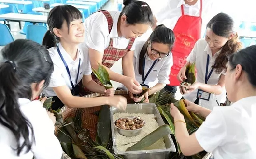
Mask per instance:
[[[180,81],[177,75],[180,69],[185,65],[186,58],[194,48],[195,43],[201,38],[202,27],[202,0],[200,0],[200,16],[184,15],[183,5],[181,6],[182,15],[177,21],[173,32],[175,43],[172,48],[173,66],[169,75],[169,86],[179,86]]]

